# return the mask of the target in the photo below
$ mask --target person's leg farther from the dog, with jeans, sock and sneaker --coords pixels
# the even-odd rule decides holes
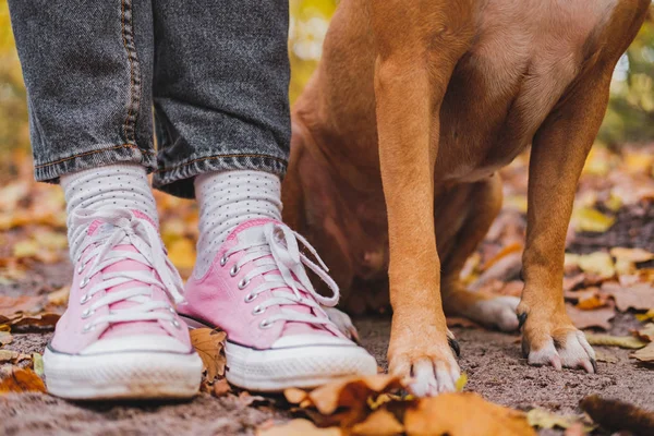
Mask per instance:
[[[146,171],[152,146],[149,2],[10,1],[35,174],[61,181],[74,276],[44,354],[51,393],[190,397],[202,362],[171,299]]]

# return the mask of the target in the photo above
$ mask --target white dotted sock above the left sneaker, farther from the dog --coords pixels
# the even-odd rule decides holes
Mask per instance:
[[[68,237],[73,263],[88,226],[74,226],[78,209],[136,209],[158,223],[157,206],[145,168],[138,164],[108,165],[61,177],[68,214]]]

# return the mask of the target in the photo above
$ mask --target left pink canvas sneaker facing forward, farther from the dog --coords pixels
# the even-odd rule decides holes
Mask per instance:
[[[88,223],[69,307],[44,354],[50,393],[69,399],[189,398],[202,361],[172,304],[182,281],[138,211],[83,210]]]

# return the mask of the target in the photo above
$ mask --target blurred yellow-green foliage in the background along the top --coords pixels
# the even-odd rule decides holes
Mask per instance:
[[[290,0],[291,101],[302,92],[320,57],[337,0]],[[651,14],[652,15],[652,14]],[[608,145],[654,141],[654,22],[641,29],[616,73],[609,110],[600,132]],[[0,0],[0,150],[27,148],[25,89],[9,21]]]

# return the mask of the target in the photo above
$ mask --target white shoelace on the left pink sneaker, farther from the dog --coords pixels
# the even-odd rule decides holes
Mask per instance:
[[[132,280],[140,281],[144,286],[114,291],[94,302],[82,313],[83,318],[90,317],[99,307],[118,302],[130,301],[138,304],[130,308],[112,310],[107,315],[98,316],[93,323],[84,326],[84,331],[90,331],[96,326],[102,324],[156,319],[168,320],[179,328],[180,323],[173,316],[175,313],[174,307],[168,302],[152,300],[152,288],[149,286],[164,289],[175,303],[183,301],[182,279],[172,263],[168,259],[155,228],[146,220],[136,218],[131,211],[125,209],[116,209],[113,211],[81,209],[73,216],[73,222],[80,226],[90,225],[96,220],[111,225],[113,229],[110,233],[100,231],[98,234],[87,237],[82,244],[81,253],[84,253],[88,246],[94,244],[95,247],[86,254],[81,254],[76,259],[80,265],[80,272],[86,268],[88,262],[93,262],[90,268],[80,282],[80,289],[85,288],[90,278],[97,274],[101,274],[101,280],[82,295],[81,303],[85,304],[97,292],[124,284]],[[117,245],[133,245],[137,252],[114,250]],[[101,272],[105,268],[128,259],[138,262],[153,268],[154,271]],[[166,308],[168,313],[155,312],[160,308]]]

